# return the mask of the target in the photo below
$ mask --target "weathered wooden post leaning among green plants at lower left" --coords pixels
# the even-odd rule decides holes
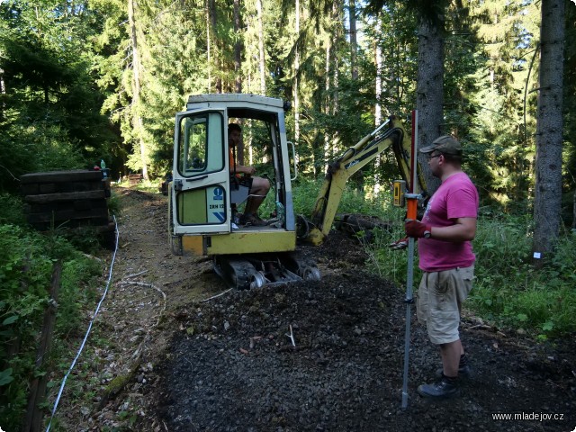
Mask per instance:
[[[45,356],[48,355],[52,343],[52,333],[56,324],[56,310],[58,309],[58,289],[60,287],[60,276],[62,275],[62,263],[57,261],[52,267],[52,281],[50,284],[49,304],[44,311],[44,321],[42,323],[42,334],[40,335],[40,346],[36,356],[35,371],[39,371],[44,365]],[[35,376],[30,384],[30,395],[28,397],[28,410],[23,423],[23,432],[40,432],[42,428],[42,411],[39,408],[41,402],[46,398],[46,384],[48,374]]]

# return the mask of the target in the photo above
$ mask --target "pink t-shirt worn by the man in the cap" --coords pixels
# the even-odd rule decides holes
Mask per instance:
[[[458,218],[477,218],[478,201],[478,191],[470,177],[464,172],[458,172],[446,178],[432,195],[422,222],[431,227],[448,227],[454,225]],[[418,250],[419,267],[425,272],[469,267],[476,259],[470,241],[419,238]]]

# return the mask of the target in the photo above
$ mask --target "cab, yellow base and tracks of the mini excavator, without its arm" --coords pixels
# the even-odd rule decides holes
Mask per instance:
[[[235,223],[249,188],[230,169],[230,122],[241,123],[245,142],[258,140],[257,147],[266,149],[263,161],[273,173],[266,200],[276,209],[266,226]],[[283,101],[253,94],[190,96],[186,111],[175,116],[174,144],[169,229],[175,254],[214,257],[217,273],[238,288],[284,282],[286,269],[292,274],[289,280],[299,274],[320,278],[317,269],[292,254],[296,221],[291,180],[296,171],[294,165],[291,173]]]

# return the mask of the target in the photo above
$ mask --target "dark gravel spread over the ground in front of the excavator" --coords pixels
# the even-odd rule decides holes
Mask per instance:
[[[167,430],[576,427],[574,341],[536,346],[472,318],[461,333],[472,376],[461,380],[459,398],[428,401],[416,388],[435,378],[440,359],[413,313],[410,400],[402,410],[404,293],[356,267],[361,248],[336,237],[314,252],[329,270],[319,283],[229,292],[175,314],[180,331],[156,389]],[[493,419],[498,413],[519,419]]]

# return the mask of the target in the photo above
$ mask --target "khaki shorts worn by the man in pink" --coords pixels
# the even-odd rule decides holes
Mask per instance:
[[[474,266],[444,272],[425,272],[417,294],[417,315],[426,324],[433,344],[449,344],[460,338],[460,310],[472,290]]]

